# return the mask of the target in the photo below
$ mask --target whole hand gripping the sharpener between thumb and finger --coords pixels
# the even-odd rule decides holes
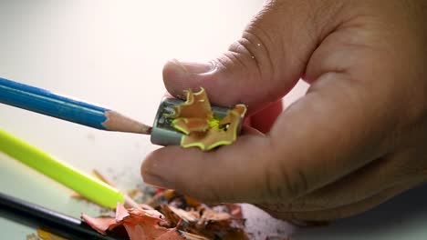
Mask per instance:
[[[423,0],[267,1],[223,56],[163,70],[172,95],[203,86],[215,105],[248,105],[254,127],[209,153],[161,148],[143,180],[301,220],[356,215],[422,184],[425,23]],[[307,95],[276,111],[299,78]]]

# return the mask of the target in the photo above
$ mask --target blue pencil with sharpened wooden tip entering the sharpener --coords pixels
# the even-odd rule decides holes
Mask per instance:
[[[0,103],[100,130],[151,134],[150,126],[141,124],[116,111],[1,77]]]

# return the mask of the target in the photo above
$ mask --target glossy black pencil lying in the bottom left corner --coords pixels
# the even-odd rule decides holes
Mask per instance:
[[[0,193],[0,216],[72,240],[127,239],[117,235],[100,235],[78,218],[2,193]]]

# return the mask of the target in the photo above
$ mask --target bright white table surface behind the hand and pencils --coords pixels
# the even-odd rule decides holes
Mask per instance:
[[[0,1],[0,77],[109,106],[151,124],[171,58],[203,61],[221,54],[263,4],[261,0]],[[302,95],[307,85],[286,96]],[[140,165],[158,146],[149,136],[109,133],[0,105],[0,128],[121,189],[141,185]],[[293,229],[255,210],[251,229],[295,232],[293,239],[427,239],[427,195],[413,190],[365,215],[316,229]],[[0,155],[0,191],[78,217],[98,210],[72,191]],[[424,205],[424,206],[423,206]],[[252,209],[250,206],[245,209]],[[35,230],[0,215],[0,239]],[[261,238],[261,237],[259,237]]]

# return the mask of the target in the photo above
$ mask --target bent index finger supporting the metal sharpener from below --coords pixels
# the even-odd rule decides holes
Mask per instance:
[[[376,109],[364,104],[364,86],[340,78],[322,76],[269,135],[243,135],[207,153],[179,146],[153,152],[142,165],[144,181],[203,201],[259,203],[304,195],[348,174],[377,154],[378,139],[367,128]]]

